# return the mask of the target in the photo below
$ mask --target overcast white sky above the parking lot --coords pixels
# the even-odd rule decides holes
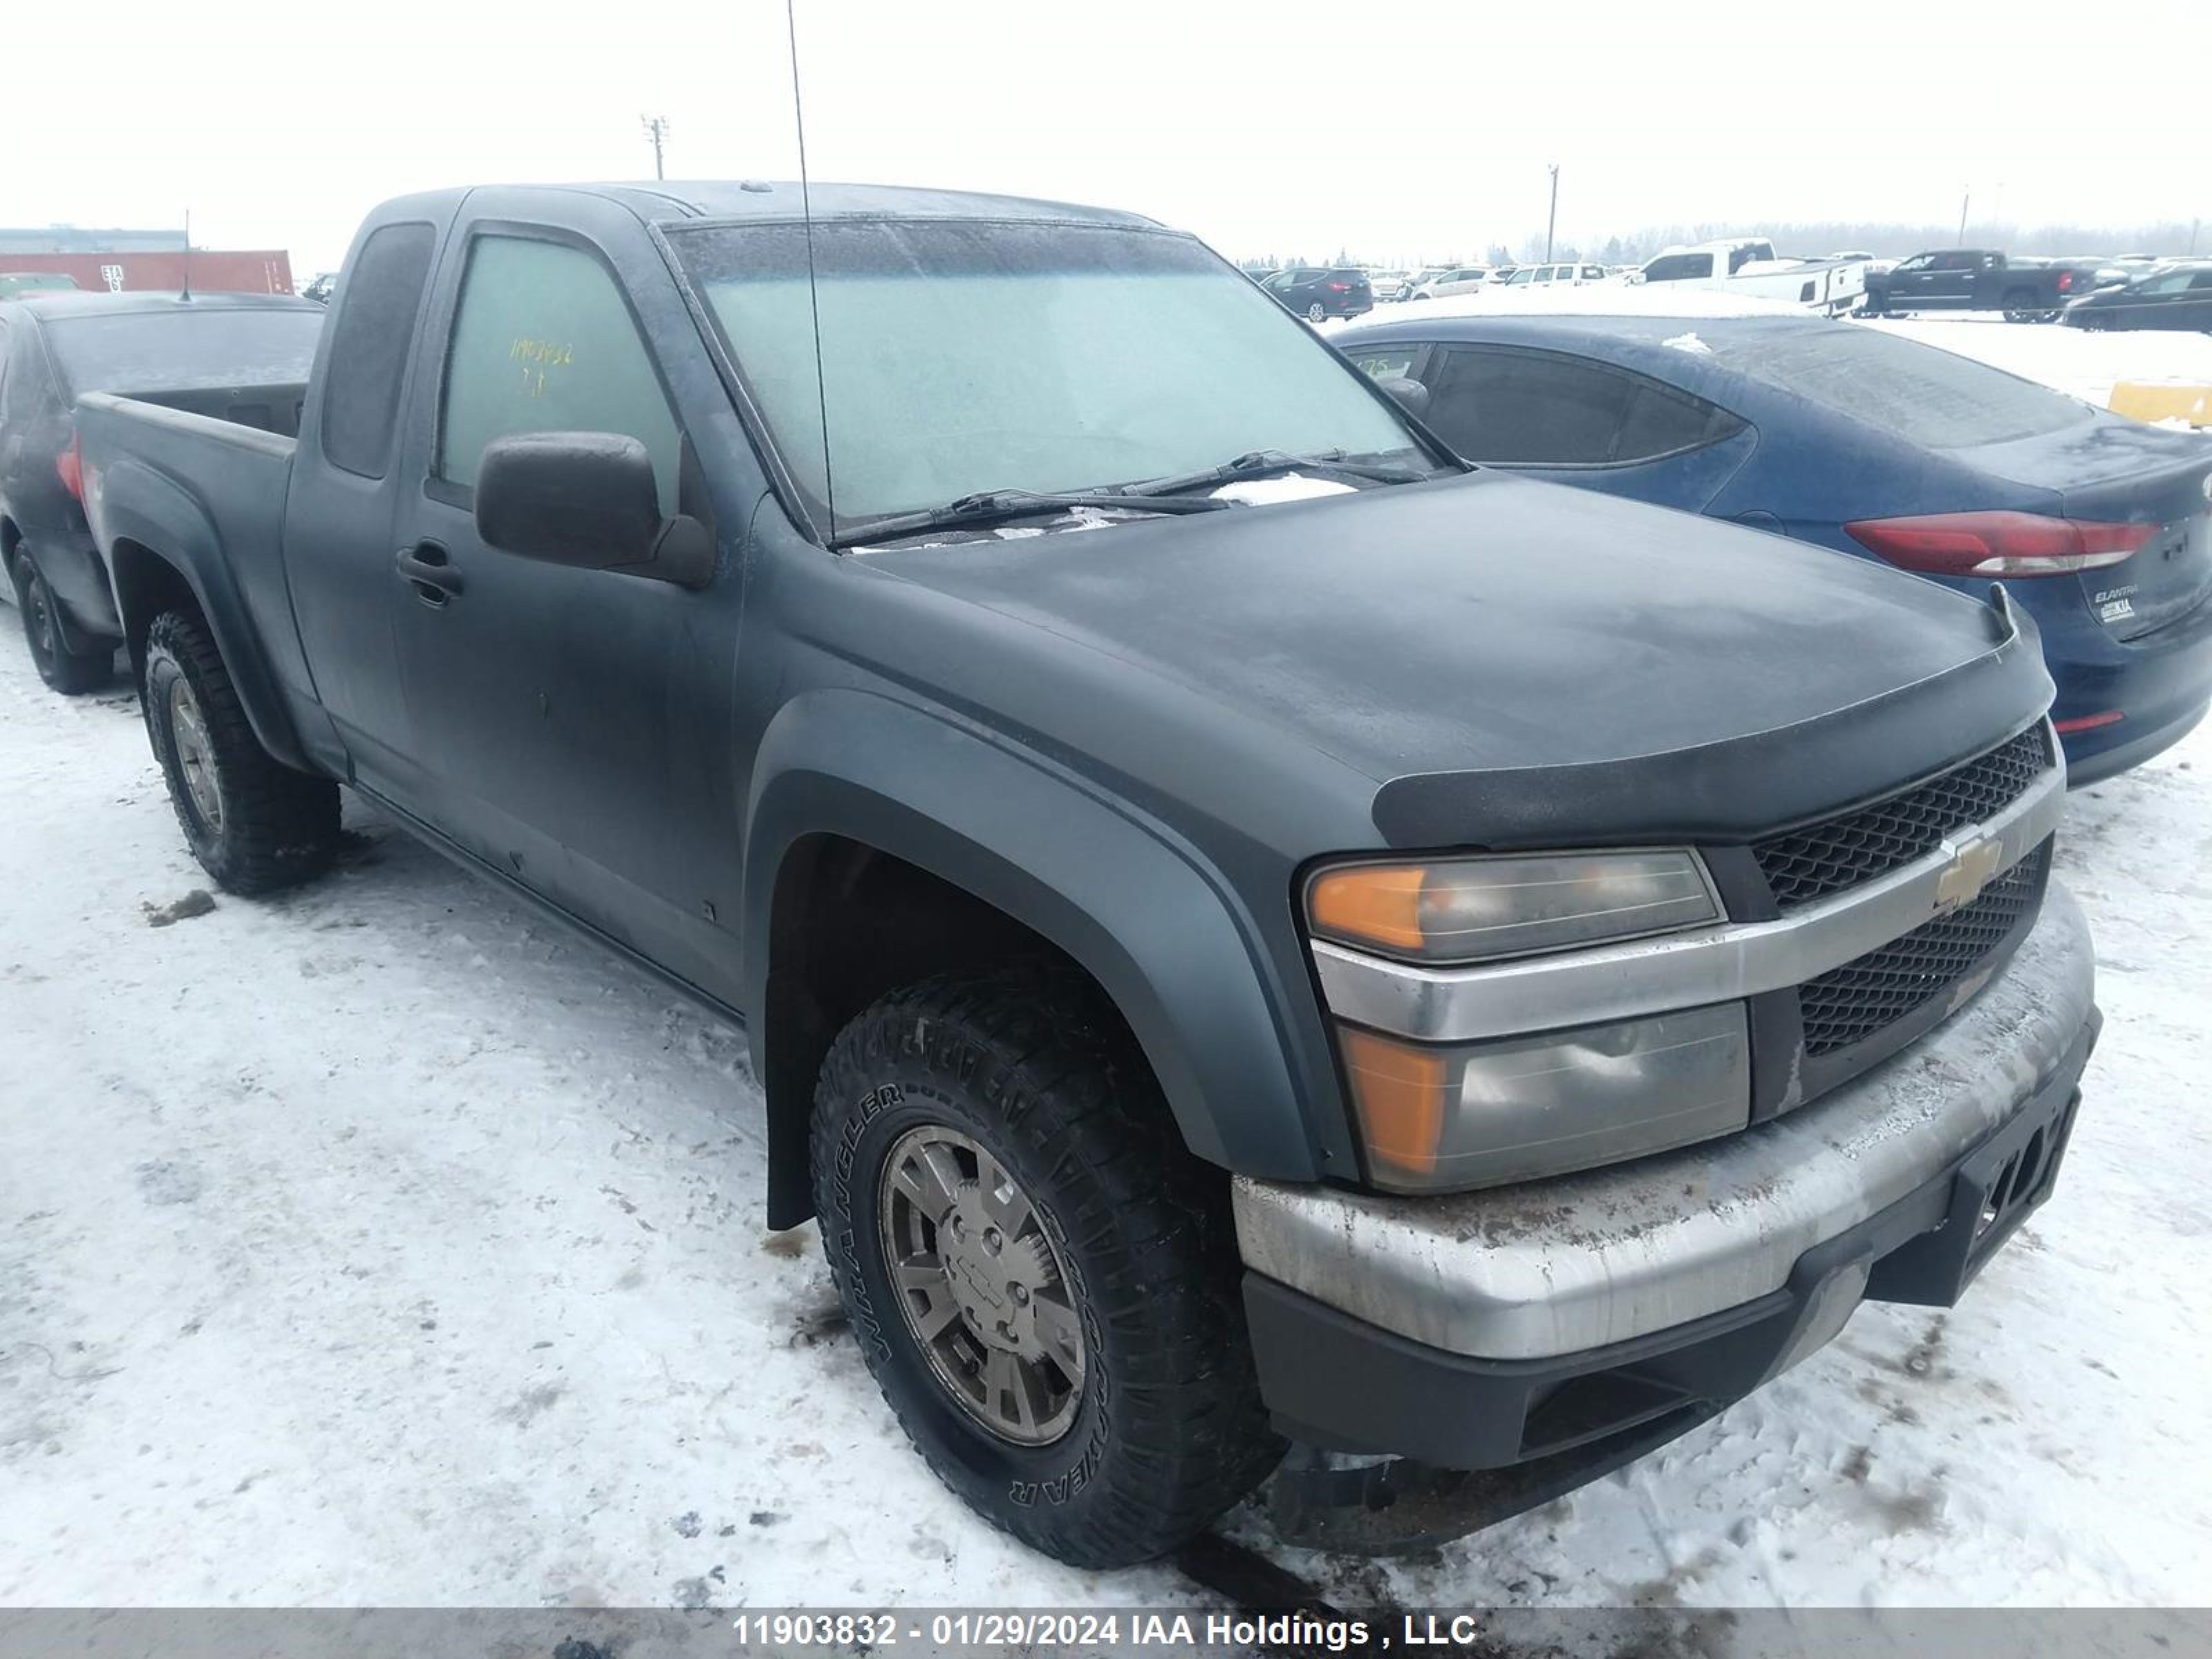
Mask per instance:
[[[2212,219],[2212,0],[799,0],[816,179],[1135,208],[1228,254],[1692,221]],[[1851,20],[1860,22],[1851,22]],[[1865,20],[1887,18],[1885,27]],[[1818,24],[1814,20],[1820,20]],[[2108,27],[2110,24],[2110,27]],[[9,7],[0,223],[338,263],[487,179],[794,177],[783,0]]]

